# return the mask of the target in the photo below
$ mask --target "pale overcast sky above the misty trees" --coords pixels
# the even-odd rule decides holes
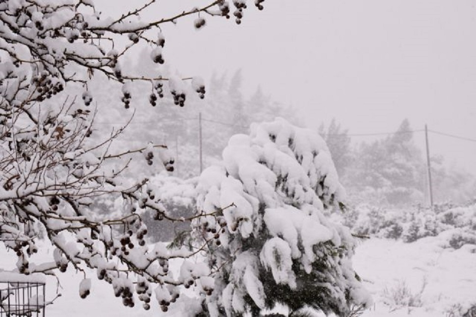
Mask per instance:
[[[105,14],[142,1],[96,1]],[[160,0],[144,19],[207,1]],[[164,26],[165,57],[184,74],[209,78],[241,68],[305,114],[309,127],[335,117],[350,133],[415,129],[476,139],[476,0],[248,1],[241,25],[212,18]],[[106,12],[107,11],[107,12]],[[423,144],[423,134],[416,134]],[[476,142],[430,134],[430,149],[476,173]],[[354,139],[360,140],[360,139]]]

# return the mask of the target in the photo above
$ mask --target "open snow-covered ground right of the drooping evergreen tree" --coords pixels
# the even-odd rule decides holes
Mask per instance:
[[[362,316],[450,317],[458,316],[450,314],[458,308],[465,311],[476,304],[476,245],[446,248],[444,237],[361,244],[354,268],[375,303]]]

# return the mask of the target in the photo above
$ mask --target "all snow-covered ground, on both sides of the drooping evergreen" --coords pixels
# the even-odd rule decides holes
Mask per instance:
[[[458,315],[450,313],[475,304],[476,245],[467,244],[454,250],[445,247],[447,243],[443,237],[427,237],[411,244],[377,238],[362,242],[353,258],[354,268],[374,300],[374,305],[362,316],[456,317]],[[4,254],[4,249],[0,252]],[[2,256],[1,262],[7,261],[12,252],[8,255]],[[62,296],[48,306],[48,317],[162,314],[157,303],[153,303],[150,311],[143,310],[140,305],[125,308],[121,299],[114,297],[111,286],[98,281],[93,274],[88,276],[92,279],[92,289],[86,299],[79,298],[81,272],[70,270],[59,277]],[[47,291],[50,296],[55,294],[55,279],[48,279]]]

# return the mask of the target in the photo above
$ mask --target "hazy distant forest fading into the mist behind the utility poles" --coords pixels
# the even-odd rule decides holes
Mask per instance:
[[[137,61],[131,69],[149,74],[158,72],[158,67],[147,58],[147,51],[144,50]],[[234,134],[248,133],[252,122],[270,121],[278,116],[297,125],[304,124],[300,118],[303,114],[274,100],[260,87],[256,87],[255,93],[244,95],[243,80],[239,70],[215,73],[207,84],[207,97],[204,100],[194,98],[184,108],[174,106],[171,97],[159,100],[158,106],[152,107],[149,95],[143,93],[147,86],[137,83],[133,86],[133,96],[137,100],[135,113],[107,109],[107,116],[98,119],[101,127],[98,132],[107,133],[133,116],[128,126],[130,133],[121,142],[166,144],[177,159],[175,170],[170,174],[192,178],[200,173],[199,113],[202,116],[203,169],[219,161],[229,138]],[[97,86],[113,85],[103,80]],[[118,103],[119,92],[117,96],[110,93],[115,91],[112,87],[98,91],[98,104]],[[412,132],[414,128],[408,119],[401,118],[400,125],[389,129],[388,135],[374,136],[371,141],[350,136],[346,127],[339,123],[339,118],[331,122],[316,122],[316,126],[310,128],[314,128],[329,147],[350,204],[429,205],[425,151],[415,142],[415,138],[423,139],[424,134],[422,130]],[[474,175],[451,168],[446,163],[443,155],[430,154],[434,202],[459,204],[474,199]],[[143,168],[138,167],[133,172],[140,173]]]

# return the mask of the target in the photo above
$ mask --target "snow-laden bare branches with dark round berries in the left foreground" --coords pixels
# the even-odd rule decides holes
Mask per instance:
[[[80,295],[85,297],[91,284],[85,268],[92,268],[98,279],[112,285],[116,296],[122,296],[125,306],[134,306],[138,298],[149,309],[154,291],[166,311],[180,293],[177,287],[189,283],[170,274],[168,260],[190,257],[208,242],[191,251],[147,245],[141,215],[185,221],[217,211],[174,219],[147,178],[123,177],[134,153],[142,153],[147,165],[159,162],[167,171],[173,171],[174,159],[165,145],[118,151],[113,144],[127,124],[109,135],[95,136],[97,108],[91,109],[94,96],[88,85],[96,75],[119,82],[122,102],[129,108],[131,82],[145,81],[151,85],[152,105],[170,92],[174,103],[184,106],[183,79],[124,73],[123,59],[143,43],[150,48],[152,61],[163,64],[166,47],[160,25],[196,16],[195,27],[202,27],[204,16],[229,18],[232,5],[214,0],[170,17],[141,20],[156,2],[150,0],[118,19],[103,17],[90,0],[0,2],[0,241],[16,253],[23,274],[76,268],[84,273]],[[256,1],[258,9],[263,8],[261,2]],[[233,6],[239,24],[246,4],[234,0]],[[127,44],[121,41],[124,37]],[[185,79],[191,79],[200,98],[205,97],[203,80]],[[169,86],[165,91],[164,83]],[[74,89],[79,94],[71,94]],[[110,216],[116,210],[108,210],[104,217],[93,212],[96,199],[104,196],[123,202],[116,213],[120,216]],[[43,238],[54,248],[53,259],[34,263],[30,258]],[[209,274],[197,272],[193,280]]]

